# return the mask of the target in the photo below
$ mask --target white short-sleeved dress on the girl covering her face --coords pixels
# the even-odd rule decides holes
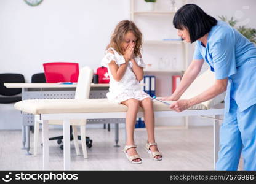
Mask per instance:
[[[110,50],[113,50],[113,53],[111,53]],[[145,98],[151,98],[147,93],[141,90],[142,86],[140,86],[134,72],[132,71],[132,61],[129,61],[126,72],[120,81],[114,80],[113,75],[110,72],[108,64],[111,61],[115,61],[118,66],[126,63],[124,56],[119,55],[114,48],[110,47],[106,50],[106,55],[102,59],[101,64],[108,68],[108,74],[110,75],[110,92],[106,94],[108,100],[120,104],[121,102],[132,98],[138,99],[139,101],[142,101]],[[142,58],[136,57],[135,61],[138,66],[145,67],[145,63]]]

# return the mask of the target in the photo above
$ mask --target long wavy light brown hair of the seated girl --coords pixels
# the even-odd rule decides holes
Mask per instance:
[[[129,31],[134,33],[134,36],[137,38],[136,44],[134,47],[134,55],[141,56],[140,50],[142,49],[142,33],[137,28],[135,23],[130,20],[122,20],[116,25],[114,29],[114,33],[111,36],[110,44],[106,47],[106,49],[113,47],[119,54],[123,54],[124,50],[121,48],[121,43],[124,40],[124,35],[126,35]]]

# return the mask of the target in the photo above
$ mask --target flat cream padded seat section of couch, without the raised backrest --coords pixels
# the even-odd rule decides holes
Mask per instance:
[[[171,103],[171,101],[169,101]],[[154,101],[155,111],[168,111],[169,105]],[[108,99],[30,99],[14,104],[15,109],[26,113],[83,113],[83,112],[126,112],[126,105],[116,104]],[[189,110],[206,109],[203,104],[194,105]],[[140,108],[140,111],[142,109]]]

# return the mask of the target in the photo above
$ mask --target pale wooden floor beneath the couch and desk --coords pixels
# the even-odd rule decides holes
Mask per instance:
[[[41,137],[41,132],[40,136]],[[62,135],[60,129],[50,129],[50,137]],[[135,129],[137,151],[142,164],[130,164],[124,153],[124,129],[119,129],[119,145],[114,145],[114,129],[87,129],[87,136],[93,139],[88,149],[88,159],[77,156],[71,142],[72,170],[213,170],[212,127],[189,129],[157,128],[156,142],[163,153],[162,161],[153,161],[143,149],[146,142],[145,129]],[[21,131],[0,131],[0,170],[42,170],[42,148],[38,156],[27,156],[22,150]],[[41,141],[41,139],[40,139]],[[63,169],[63,151],[55,140],[50,141],[50,169]],[[80,145],[81,150],[81,145]],[[33,153],[33,134],[31,134]],[[81,150],[82,153],[82,150]],[[241,164],[240,164],[241,165]],[[239,166],[241,168],[241,166]]]

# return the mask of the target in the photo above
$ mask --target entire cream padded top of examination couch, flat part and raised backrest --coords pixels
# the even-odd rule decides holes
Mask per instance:
[[[215,82],[214,72],[207,70],[194,80],[180,99],[189,99],[207,90]],[[218,95],[214,99],[194,105],[188,110],[210,109],[214,105],[223,101],[225,93]],[[158,101],[153,101],[154,111],[168,111],[169,106]],[[166,101],[168,102],[168,101]],[[171,103],[171,101],[169,101]],[[26,113],[84,113],[84,112],[126,112],[127,107],[116,104],[108,99],[35,99],[24,100],[15,103],[15,109]],[[142,109],[140,108],[140,111]]]

